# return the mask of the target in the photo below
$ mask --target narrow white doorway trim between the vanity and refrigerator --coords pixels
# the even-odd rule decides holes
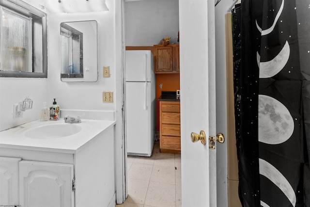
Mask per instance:
[[[115,193],[116,203],[124,203],[127,195],[127,150],[125,139],[124,88],[124,0],[115,0]]]

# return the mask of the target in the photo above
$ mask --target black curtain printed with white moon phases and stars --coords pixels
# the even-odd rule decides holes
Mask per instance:
[[[232,13],[240,201],[310,207],[310,0],[242,0]]]

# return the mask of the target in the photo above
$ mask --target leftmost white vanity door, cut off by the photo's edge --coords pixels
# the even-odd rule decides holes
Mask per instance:
[[[0,157],[0,204],[18,206],[19,158]]]

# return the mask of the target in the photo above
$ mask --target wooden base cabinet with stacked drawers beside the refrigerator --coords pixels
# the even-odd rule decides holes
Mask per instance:
[[[159,102],[160,152],[181,154],[180,102]]]

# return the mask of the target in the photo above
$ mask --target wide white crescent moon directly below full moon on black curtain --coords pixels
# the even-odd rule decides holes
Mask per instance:
[[[260,174],[273,182],[285,194],[294,207],[296,205],[296,195],[294,189],[284,175],[266,160],[259,159],[259,166]]]

